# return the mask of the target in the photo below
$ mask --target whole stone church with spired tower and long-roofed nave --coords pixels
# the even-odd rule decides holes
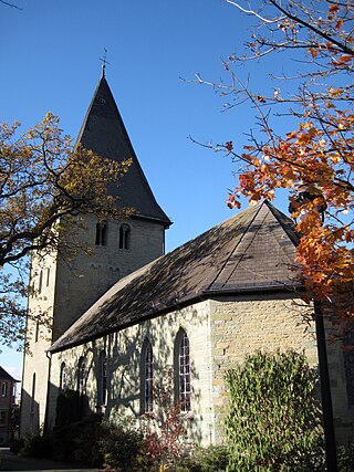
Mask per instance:
[[[116,161],[132,158],[119,204],[124,220],[87,216],[77,237],[92,248],[70,262],[32,256],[21,433],[55,424],[65,389],[87,411],[136,421],[156,409],[154,388],[171,379],[189,438],[222,442],[225,373],[261,349],[304,352],[319,365],[311,310],[301,301],[292,220],[268,201],[165,254],[171,224],[134,153],[104,69],[77,143]],[[299,270],[299,269],[298,269]],[[310,319],[310,321],[309,321]],[[354,440],[354,355],[327,342],[336,440]]]

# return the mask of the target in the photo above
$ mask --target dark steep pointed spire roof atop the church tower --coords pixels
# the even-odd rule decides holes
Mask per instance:
[[[128,172],[122,178],[117,195],[119,206],[134,208],[136,216],[171,224],[162,210],[134,153],[104,73],[92,98],[79,133],[77,143],[102,157],[118,162],[133,158]],[[115,193],[112,191],[112,193]]]

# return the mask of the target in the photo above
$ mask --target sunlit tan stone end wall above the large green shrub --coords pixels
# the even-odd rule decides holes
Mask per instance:
[[[212,349],[212,401],[217,422],[216,442],[222,442],[227,411],[225,373],[257,350],[304,350],[317,365],[313,326],[302,317],[299,301],[282,293],[241,295],[210,302]]]

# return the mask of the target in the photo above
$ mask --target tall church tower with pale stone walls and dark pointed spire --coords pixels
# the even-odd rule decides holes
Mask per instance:
[[[165,230],[171,224],[137,160],[104,67],[77,143],[118,162],[132,159],[118,187],[118,204],[133,208],[134,213],[126,220],[97,221],[92,214],[84,217],[75,233],[91,248],[90,255],[80,252],[67,261],[58,251],[33,254],[30,284],[34,292],[28,301],[32,316],[27,327],[29,354],[23,361],[21,434],[48,426],[51,365],[46,349],[113,283],[162,255]]]

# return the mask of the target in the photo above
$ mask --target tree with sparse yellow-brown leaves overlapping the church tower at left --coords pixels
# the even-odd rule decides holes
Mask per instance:
[[[30,254],[85,250],[74,233],[61,239],[61,228],[83,213],[100,219],[126,212],[107,188],[129,165],[73,147],[50,113],[21,136],[19,126],[0,125],[0,337],[8,345],[23,335]]]

